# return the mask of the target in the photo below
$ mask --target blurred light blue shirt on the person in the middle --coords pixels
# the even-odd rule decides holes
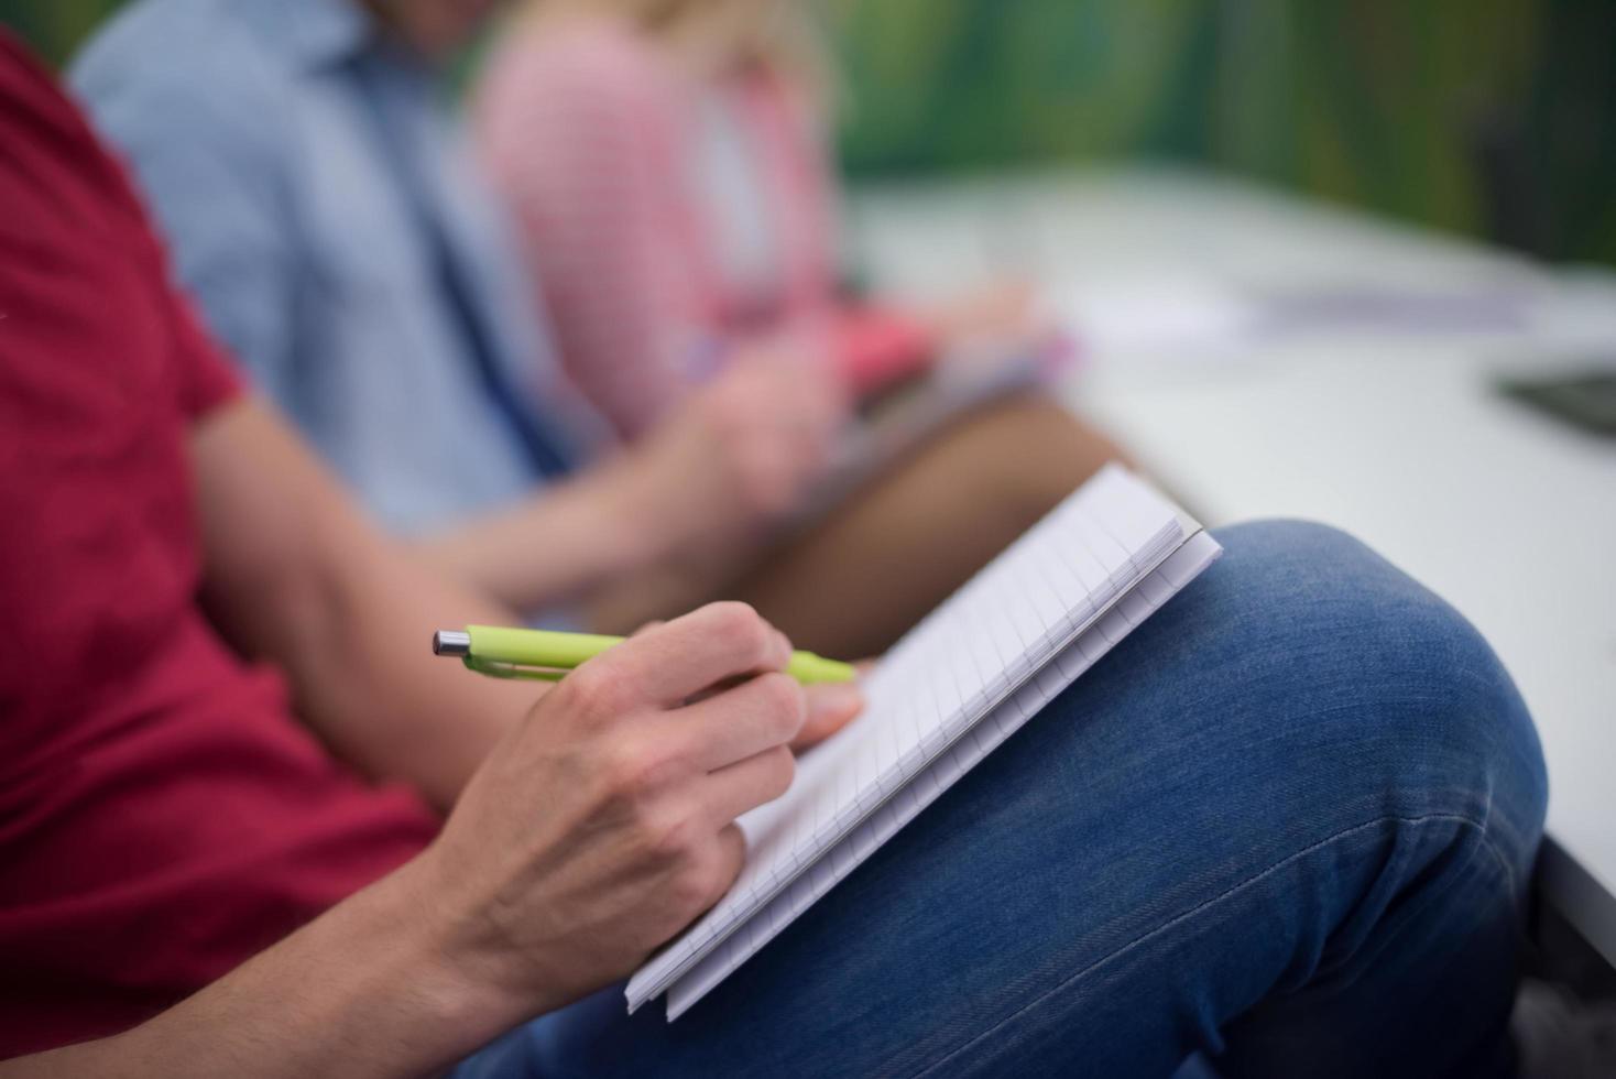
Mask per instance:
[[[213,333],[385,525],[452,523],[540,485],[512,410],[600,446],[433,71],[357,0],[142,0],[73,86]],[[444,249],[462,288],[444,288]]]

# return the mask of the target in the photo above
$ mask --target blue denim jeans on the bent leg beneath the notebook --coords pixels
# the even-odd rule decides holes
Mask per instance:
[[[472,1076],[1513,1073],[1545,775],[1445,602],[1256,523],[674,1024],[621,989]]]

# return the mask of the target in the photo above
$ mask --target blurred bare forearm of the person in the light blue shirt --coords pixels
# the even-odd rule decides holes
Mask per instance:
[[[417,541],[438,572],[516,611],[577,599],[667,557],[656,493],[624,456],[498,514]]]

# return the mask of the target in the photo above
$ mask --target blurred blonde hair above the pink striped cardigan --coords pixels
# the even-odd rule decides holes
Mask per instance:
[[[619,18],[703,78],[764,69],[827,105],[834,66],[814,0],[532,0],[538,13]]]

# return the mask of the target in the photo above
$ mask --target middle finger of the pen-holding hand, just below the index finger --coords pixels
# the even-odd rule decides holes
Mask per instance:
[[[677,709],[667,722],[690,759],[713,772],[790,743],[806,717],[803,686],[790,675],[769,672]]]

